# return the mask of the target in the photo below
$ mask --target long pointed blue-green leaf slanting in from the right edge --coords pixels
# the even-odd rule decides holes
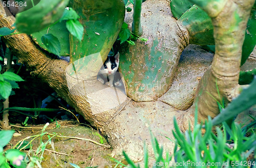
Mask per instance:
[[[219,115],[212,119],[212,124],[221,124],[227,119],[230,119],[240,112],[250,108],[254,104],[256,104],[256,76],[254,76],[254,79],[248,88],[244,89],[241,94],[229,103]]]

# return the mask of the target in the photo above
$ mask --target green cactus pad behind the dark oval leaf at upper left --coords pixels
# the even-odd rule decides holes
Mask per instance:
[[[44,30],[41,30],[40,32],[36,32],[31,35],[33,40],[36,41],[36,43],[45,50],[47,50],[47,47],[45,46],[45,44],[42,43],[41,37],[42,35],[45,35],[47,33],[51,33],[58,38],[61,47],[60,56],[69,56],[69,31],[66,28],[66,21],[58,22],[54,25],[51,25],[50,27],[47,27]]]

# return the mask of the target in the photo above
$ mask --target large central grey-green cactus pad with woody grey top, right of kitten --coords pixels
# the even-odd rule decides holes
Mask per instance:
[[[176,32],[178,28],[174,19],[169,16],[166,1],[145,1],[143,5],[151,7],[150,17],[141,17],[143,23],[143,38],[147,42],[135,41],[126,51],[120,52],[119,69],[126,83],[127,95],[136,102],[154,101],[161,97],[172,84],[180,54],[184,49],[186,39],[173,42],[170,39],[180,39]],[[159,11],[161,11],[159,13]],[[147,13],[142,8],[142,13]],[[127,20],[131,21],[131,15]],[[161,18],[161,19],[159,19]],[[153,24],[154,23],[154,24]],[[131,22],[128,23],[130,25]]]

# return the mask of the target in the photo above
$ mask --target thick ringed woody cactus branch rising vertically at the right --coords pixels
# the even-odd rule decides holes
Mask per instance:
[[[216,44],[214,60],[201,79],[195,98],[198,100],[198,119],[204,122],[207,115],[215,117],[219,114],[217,101],[229,103],[232,100],[230,92],[238,86],[242,45],[254,0],[191,2],[211,17]],[[189,119],[193,123],[191,116],[194,116],[195,102],[180,120],[180,127],[184,130]]]

